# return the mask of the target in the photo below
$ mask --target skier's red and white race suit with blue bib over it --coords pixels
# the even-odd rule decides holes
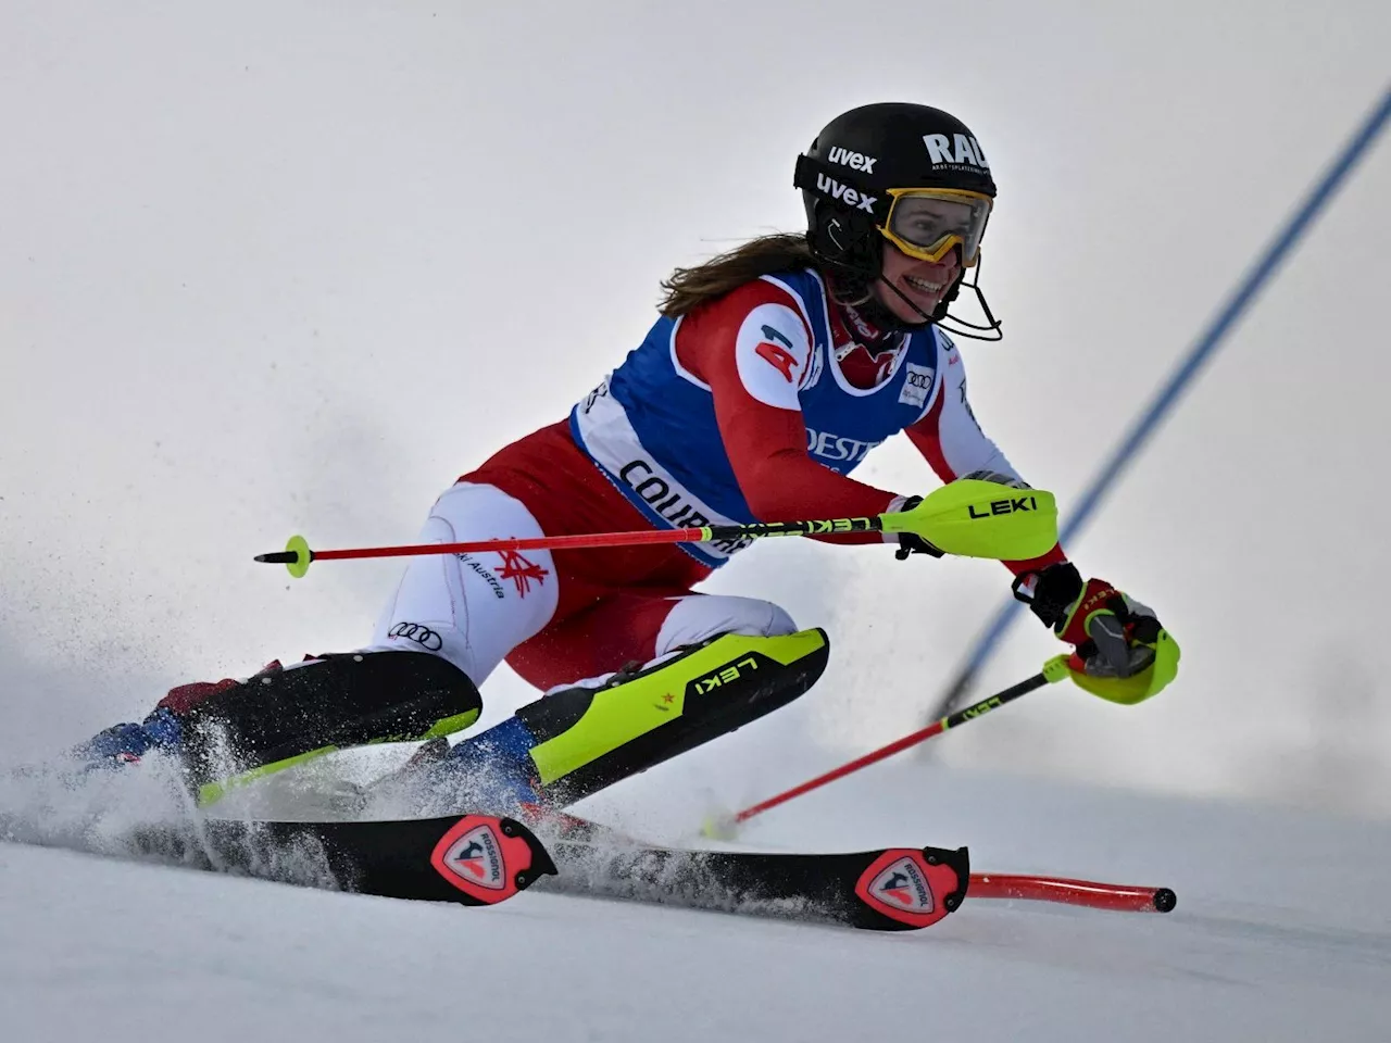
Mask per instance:
[[[976,423],[964,370],[935,327],[885,334],[835,303],[812,271],[765,277],[658,320],[568,421],[447,490],[421,542],[879,515],[903,498],[849,471],[897,431],[943,481],[976,470],[1018,477]],[[416,558],[370,647],[434,651],[480,686],[506,659],[551,688],[722,631],[791,633],[790,616],[766,601],[693,591],[737,549]],[[1011,567],[1061,559],[1054,548]]]

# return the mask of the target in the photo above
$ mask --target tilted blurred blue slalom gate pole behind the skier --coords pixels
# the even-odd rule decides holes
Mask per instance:
[[[1198,338],[1198,342],[1188,352],[1188,356],[1178,364],[1178,369],[1174,370],[1170,378],[1159,389],[1159,394],[1141,414],[1139,420],[1135,421],[1127,435],[1121,439],[1120,445],[1116,446],[1116,451],[1106,460],[1100,471],[1092,480],[1092,484],[1082,494],[1082,499],[1077,505],[1075,512],[1071,517],[1068,517],[1067,524],[1063,527],[1060,540],[1064,544],[1091,520],[1092,513],[1102,502],[1102,498],[1110,491],[1110,487],[1116,481],[1117,476],[1149,439],[1160,421],[1170,413],[1170,410],[1173,410],[1180,395],[1182,395],[1182,392],[1192,382],[1203,363],[1206,363],[1212,357],[1213,352],[1217,350],[1217,346],[1225,339],[1231,327],[1235,325],[1238,318],[1241,318],[1251,302],[1264,288],[1274,271],[1299,242],[1299,238],[1309,229],[1309,225],[1313,224],[1313,220],[1328,204],[1328,200],[1333,199],[1334,193],[1342,186],[1342,182],[1346,181],[1348,175],[1363,159],[1363,156],[1366,156],[1372,143],[1385,127],[1388,118],[1391,118],[1391,88],[1387,88],[1377,107],[1372,111],[1363,125],[1358,128],[1356,134],[1353,134],[1348,145],[1344,146],[1342,152],[1328,167],[1319,184],[1313,186],[1285,227],[1246,273],[1246,277],[1227,299],[1227,303],[1223,305],[1217,317],[1213,318],[1207,330],[1205,330]],[[990,655],[993,655],[1000,638],[1004,637],[1004,631],[1008,630],[1010,623],[1022,608],[1024,606],[1013,598],[1000,606],[989,626],[982,631],[981,637],[976,638],[975,647],[971,649],[965,665],[953,679],[951,684],[947,686],[938,704],[932,708],[932,712],[928,715],[929,719],[935,720],[946,716],[956,706],[958,700],[971,690],[976,674],[989,661]]]

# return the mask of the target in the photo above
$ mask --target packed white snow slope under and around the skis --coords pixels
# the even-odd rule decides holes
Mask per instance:
[[[682,770],[586,809],[689,837],[704,808]],[[465,909],[0,844],[0,1035],[1391,1039],[1384,823],[904,761],[769,812],[740,843],[970,844],[978,871],[1166,884],[1178,909],[968,898],[935,928],[890,936],[538,890]]]

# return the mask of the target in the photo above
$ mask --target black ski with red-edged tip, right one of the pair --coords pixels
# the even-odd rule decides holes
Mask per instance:
[[[780,854],[657,847],[568,814],[531,825],[559,873],[544,890],[697,909],[915,930],[956,911],[967,848]]]

